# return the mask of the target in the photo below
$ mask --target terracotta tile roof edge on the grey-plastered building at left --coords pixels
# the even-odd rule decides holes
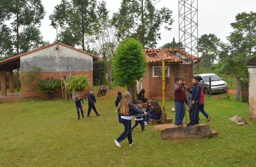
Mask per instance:
[[[52,44],[50,44],[50,45],[46,45],[46,46],[43,46],[43,47],[40,47],[40,48],[31,50],[31,51],[28,51],[28,52],[25,52],[25,53],[21,53],[21,54],[19,54],[19,55],[10,57],[10,58],[8,58],[8,59],[4,59],[4,60],[0,61],[0,63],[6,62],[6,61],[8,61],[8,60],[15,59],[15,58],[17,58],[17,57],[21,57],[21,56],[27,55],[27,54],[29,54],[29,53],[32,53],[32,52],[35,52],[35,51],[38,51],[38,50],[41,50],[41,49],[44,49],[44,48],[47,48],[47,47],[56,45],[56,44],[57,44],[57,42],[54,42],[54,43],[52,43]],[[66,44],[64,44],[64,43],[61,43],[61,42],[59,42],[59,45],[63,45],[63,46],[69,47],[69,48],[71,48],[71,49],[77,50],[77,51],[82,52],[82,53],[86,53],[86,54],[88,54],[88,55],[90,55],[90,56],[92,56],[92,57],[94,57],[94,58],[97,58],[97,59],[100,58],[99,56],[96,56],[96,55],[94,55],[94,54],[91,54],[91,53],[82,51],[82,50],[80,50],[80,49],[76,49],[76,48],[74,48],[74,47],[68,46],[68,45],[66,45]]]

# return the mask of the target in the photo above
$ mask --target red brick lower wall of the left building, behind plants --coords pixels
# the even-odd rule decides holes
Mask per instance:
[[[86,96],[87,94],[89,94],[90,89],[93,88],[93,77],[92,77],[92,71],[72,71],[71,72],[72,75],[78,75],[78,74],[82,74],[82,75],[88,75],[87,79],[89,79],[89,82],[91,84],[91,86],[89,86],[87,89],[84,90],[83,92],[83,97]],[[22,87],[22,91],[21,91],[21,97],[43,97],[43,98],[47,98],[47,93],[39,93],[36,91],[31,91],[26,83],[24,83],[23,79],[26,79],[24,76],[26,75],[26,73],[21,73],[21,87]],[[67,72],[62,72],[62,78],[64,78],[64,76],[67,76]],[[60,79],[61,78],[61,74],[60,72],[42,72],[41,73],[41,79],[45,79],[45,78],[51,78],[53,77],[54,79]],[[53,93],[53,97],[61,97],[62,98],[62,91],[55,91]]]

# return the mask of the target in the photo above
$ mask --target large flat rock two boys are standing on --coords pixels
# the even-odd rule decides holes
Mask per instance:
[[[176,127],[174,124],[167,124],[161,130],[162,139],[183,139],[183,138],[205,138],[212,136],[209,125],[198,124],[194,126]],[[160,128],[159,128],[160,129]]]

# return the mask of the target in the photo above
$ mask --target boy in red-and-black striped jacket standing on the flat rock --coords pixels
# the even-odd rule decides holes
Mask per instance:
[[[175,77],[176,84],[174,85],[174,104],[175,104],[175,126],[181,127],[183,125],[183,119],[185,116],[185,103],[188,103],[185,94],[185,82],[182,81],[181,77]]]

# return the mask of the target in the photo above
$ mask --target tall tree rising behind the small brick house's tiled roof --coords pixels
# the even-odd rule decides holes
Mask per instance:
[[[141,41],[143,48],[154,48],[161,39],[160,26],[165,23],[165,28],[171,30],[171,16],[172,11],[166,7],[155,9],[152,0],[122,0],[119,12],[113,14],[112,24],[118,30],[119,39],[133,37]]]

